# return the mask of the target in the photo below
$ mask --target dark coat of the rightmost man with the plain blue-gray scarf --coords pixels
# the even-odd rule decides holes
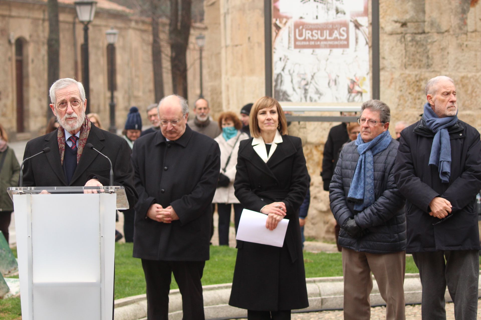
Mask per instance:
[[[478,130],[458,121],[448,128],[451,141],[451,176],[439,178],[429,166],[434,133],[421,119],[401,132],[394,177],[406,198],[406,252],[479,250],[475,195],[481,189],[481,142]],[[452,213],[441,223],[429,215],[434,197],[451,202]]]

